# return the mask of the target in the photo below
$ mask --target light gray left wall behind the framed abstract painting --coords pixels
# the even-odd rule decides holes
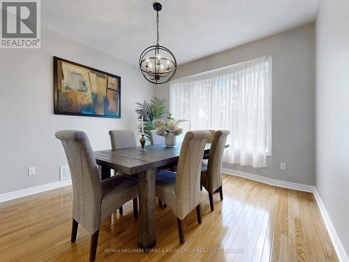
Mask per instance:
[[[53,114],[53,56],[121,76],[121,119]],[[0,194],[59,180],[66,157],[54,133],[80,129],[94,150],[110,148],[110,129],[135,130],[135,101],[154,87],[136,66],[43,29],[41,49],[0,50]],[[36,175],[27,168],[36,166]]]

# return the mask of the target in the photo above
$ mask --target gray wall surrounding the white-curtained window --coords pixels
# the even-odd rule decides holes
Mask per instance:
[[[314,184],[315,144],[314,24],[233,48],[179,66],[176,78],[274,54],[272,92],[272,157],[268,168],[228,165],[226,168],[276,180]],[[169,97],[169,85],[156,88]],[[280,162],[286,170],[280,170]]]

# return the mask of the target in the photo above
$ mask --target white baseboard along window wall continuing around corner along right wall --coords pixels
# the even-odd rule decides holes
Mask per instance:
[[[327,232],[329,233],[329,238],[331,238],[332,245],[334,246],[334,250],[336,251],[336,254],[338,256],[338,259],[340,262],[349,262],[348,255],[346,254],[346,250],[344,249],[341,240],[339,239],[339,236],[336,233],[336,229],[334,229],[334,226],[332,224],[331,219],[329,218],[329,214],[325,208],[324,203],[321,200],[320,195],[318,194],[318,190],[314,186],[309,186],[307,184],[298,184],[293,182],[287,182],[287,181],[281,181],[281,180],[274,180],[272,178],[262,177],[260,175],[253,175],[250,173],[242,172],[242,171],[236,171],[231,170],[227,168],[222,168],[222,173],[228,174],[228,175],[236,175],[237,177],[244,177],[250,180],[255,180],[258,182],[262,182],[265,184],[270,184],[275,187],[284,187],[286,189],[295,189],[299,191],[306,191],[311,192],[314,195],[316,203],[318,203],[318,207],[320,209],[322,220],[325,223],[325,226],[327,228]]]

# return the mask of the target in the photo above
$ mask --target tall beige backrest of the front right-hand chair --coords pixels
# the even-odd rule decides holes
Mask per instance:
[[[184,219],[201,202],[201,164],[208,137],[209,131],[188,131],[181,144],[176,175],[176,214],[179,219]]]

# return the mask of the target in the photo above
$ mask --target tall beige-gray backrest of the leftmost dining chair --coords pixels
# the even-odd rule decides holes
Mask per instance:
[[[73,184],[73,219],[90,233],[100,226],[102,189],[94,152],[86,133],[62,130],[56,138],[66,152]]]

